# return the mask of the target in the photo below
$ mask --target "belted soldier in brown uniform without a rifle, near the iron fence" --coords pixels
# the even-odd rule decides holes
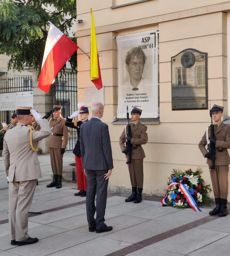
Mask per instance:
[[[61,116],[61,106],[54,105],[52,112],[54,117],[49,120],[51,134],[46,145],[49,147],[53,181],[47,187],[61,188],[62,159],[69,141],[69,127],[65,126],[66,119]]]

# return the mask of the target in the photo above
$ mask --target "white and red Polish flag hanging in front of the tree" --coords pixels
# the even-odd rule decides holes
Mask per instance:
[[[78,46],[51,22],[46,40],[38,88],[48,92],[55,77]]]

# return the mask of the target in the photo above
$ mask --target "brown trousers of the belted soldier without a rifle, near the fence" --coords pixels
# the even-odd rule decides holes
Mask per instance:
[[[53,174],[62,175],[63,154],[61,154],[61,149],[49,147],[49,156]]]

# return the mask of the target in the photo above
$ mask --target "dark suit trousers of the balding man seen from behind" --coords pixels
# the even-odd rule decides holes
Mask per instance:
[[[87,193],[86,193],[86,215],[89,228],[96,225],[97,229],[101,229],[105,222],[105,208],[107,201],[108,180],[104,175],[108,170],[86,170],[87,175]],[[96,206],[95,206],[95,196]],[[94,214],[96,212],[96,219]]]

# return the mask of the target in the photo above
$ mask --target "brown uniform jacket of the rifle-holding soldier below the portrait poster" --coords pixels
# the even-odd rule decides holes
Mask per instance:
[[[147,135],[147,126],[138,122],[135,126],[131,124],[131,143],[137,145],[137,148],[132,149],[131,158],[132,159],[143,159],[145,158],[144,149],[141,145],[147,143],[148,135]],[[121,151],[125,149],[125,129],[123,130],[120,138],[119,144]],[[126,156],[128,158],[128,156]]]

